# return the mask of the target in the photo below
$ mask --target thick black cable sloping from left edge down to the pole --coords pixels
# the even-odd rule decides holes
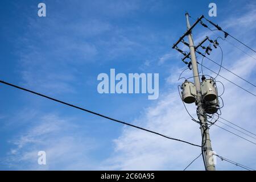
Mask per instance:
[[[76,109],[80,109],[80,110],[82,110],[82,111],[86,111],[87,113],[94,114],[94,115],[98,115],[98,116],[100,116],[100,117],[102,117],[102,118],[106,118],[106,119],[109,119],[109,120],[112,120],[112,121],[115,121],[115,122],[118,122],[118,123],[122,123],[123,125],[128,125],[128,126],[131,126],[131,127],[135,127],[135,128],[137,128],[137,129],[144,130],[144,131],[147,131],[147,132],[156,134],[156,135],[160,135],[161,137],[168,138],[168,139],[171,139],[171,140],[176,140],[176,141],[179,141],[179,142],[191,144],[192,146],[201,147],[201,146],[199,146],[199,145],[197,145],[197,144],[193,144],[193,143],[187,142],[187,141],[185,141],[185,140],[180,140],[180,139],[168,137],[168,136],[166,136],[166,135],[163,135],[163,134],[160,134],[160,133],[156,133],[155,131],[151,131],[151,130],[148,130],[148,129],[144,129],[143,127],[135,126],[135,125],[132,125],[132,124],[130,124],[130,123],[126,123],[126,122],[120,121],[120,120],[118,120],[118,119],[110,118],[110,117],[108,117],[108,116],[106,116],[106,115],[99,114],[99,113],[96,113],[96,112],[94,112],[94,111],[91,111],[91,110],[84,109],[84,108],[79,107],[79,106],[75,106],[75,105],[69,104],[69,103],[67,103],[67,102],[63,102],[63,101],[60,101],[60,100],[56,100],[55,98],[48,97],[48,96],[46,96],[46,95],[44,95],[44,94],[37,93],[37,92],[34,92],[34,91],[32,91],[32,90],[28,90],[28,89],[22,88],[22,87],[20,87],[20,86],[14,85],[14,84],[10,84],[9,82],[5,82],[5,81],[1,81],[1,80],[0,80],[0,82],[1,82],[2,84],[9,85],[9,86],[13,86],[14,88],[17,88],[17,89],[20,89],[20,90],[24,90],[24,91],[30,92],[30,93],[32,93],[32,94],[36,94],[36,95],[38,95],[38,96],[41,96],[41,97],[44,97],[44,98],[48,98],[49,100],[52,100],[52,101],[55,101],[55,102],[59,102],[59,103],[61,103],[61,104],[67,105],[67,106],[71,106],[71,107],[74,107],[74,108],[76,108]]]

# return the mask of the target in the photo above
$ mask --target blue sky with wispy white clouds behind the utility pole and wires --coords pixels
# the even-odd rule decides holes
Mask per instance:
[[[40,2],[46,4],[46,17],[38,16]],[[216,17],[208,15],[211,2],[217,5]],[[185,111],[177,90],[183,82],[177,79],[186,68],[183,55],[171,49],[186,30],[186,11],[191,24],[203,14],[256,48],[255,1],[1,1],[0,80],[200,144],[199,125]],[[205,36],[223,37],[200,24],[192,33],[195,44]],[[218,39],[223,66],[256,84],[256,54],[230,37],[227,40]],[[179,48],[188,51],[181,44]],[[210,57],[220,63],[220,49],[213,48]],[[208,60],[204,65],[218,71]],[[126,75],[159,73],[158,99],[148,100],[142,93],[98,93],[97,76],[110,75],[112,68]],[[216,76],[207,69],[203,72]],[[225,69],[220,74],[256,93],[254,86]],[[191,77],[192,72],[185,71],[183,76]],[[221,116],[255,133],[255,97],[220,76],[216,80],[225,85]],[[222,85],[217,86],[221,93]],[[199,147],[10,86],[0,85],[0,95],[1,170],[183,170],[201,152]],[[196,118],[196,106],[186,106]],[[218,155],[256,169],[255,144],[216,126],[210,127],[210,138]],[[39,151],[46,151],[46,165],[38,164]],[[202,158],[188,169],[204,170]],[[242,168],[217,159],[216,169]]]

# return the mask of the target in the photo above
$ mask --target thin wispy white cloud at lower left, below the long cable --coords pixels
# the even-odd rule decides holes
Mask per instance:
[[[72,118],[38,114],[31,121],[31,127],[10,141],[14,147],[5,159],[6,169],[7,166],[22,170],[97,168],[89,158],[96,144],[77,130],[79,127],[72,123]],[[38,164],[38,152],[42,150],[46,151],[45,166]]]

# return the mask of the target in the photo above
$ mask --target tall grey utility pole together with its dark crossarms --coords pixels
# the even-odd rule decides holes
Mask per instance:
[[[187,31],[179,38],[179,40],[177,40],[177,42],[174,44],[174,46],[172,46],[172,48],[176,49],[177,51],[179,51],[181,54],[184,55],[182,61],[185,64],[188,64],[189,69],[191,69],[190,67],[192,65],[193,79],[195,82],[195,95],[193,96],[196,96],[195,98],[196,105],[197,105],[196,113],[200,121],[200,129],[201,129],[201,136],[202,136],[202,155],[204,156],[205,169],[207,171],[215,171],[212,145],[210,143],[210,135],[209,135],[208,125],[207,125],[207,110],[205,110],[205,106],[207,105],[205,105],[205,102],[203,100],[203,95],[201,92],[201,82],[199,78],[199,72],[198,72],[197,61],[196,61],[196,52],[198,52],[197,48],[200,48],[200,47],[203,48],[202,44],[205,41],[209,40],[209,42],[212,42],[212,40],[210,40],[207,36],[202,42],[200,42],[197,46],[195,46],[193,43],[191,32],[197,23],[199,22],[201,23],[201,19],[204,18],[204,15],[201,15],[200,18],[198,18],[192,26],[190,26],[190,23],[189,23],[188,13],[186,13],[185,16],[187,20]],[[185,42],[184,40],[185,36],[188,36],[189,43]],[[185,44],[185,46],[189,47],[189,50],[190,50],[189,53],[186,53],[177,47],[177,45],[180,42]],[[207,49],[207,48],[204,48],[204,49]],[[188,63],[187,61],[185,61],[185,59],[191,59],[191,61]],[[191,90],[189,90],[189,92],[191,92]],[[208,110],[208,113],[209,113],[209,110]]]

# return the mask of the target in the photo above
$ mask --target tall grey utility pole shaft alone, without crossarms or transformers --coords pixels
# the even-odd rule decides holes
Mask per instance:
[[[203,100],[202,100],[202,93],[201,93],[201,82],[199,78],[199,72],[197,68],[197,61],[196,61],[196,53],[195,53],[195,46],[192,39],[191,34],[191,26],[189,24],[188,13],[185,14],[187,18],[187,30],[188,30],[188,41],[189,41],[189,49],[191,55],[191,64],[192,64],[192,71],[193,71],[193,78],[196,86],[196,101],[197,101],[197,116],[199,121],[201,122],[201,135],[203,140],[203,151],[204,151],[204,159],[205,159],[205,166],[207,171],[215,171],[215,166],[213,162],[213,152],[212,152],[212,145],[210,143],[210,135],[208,130],[207,121],[205,121],[205,110],[203,107]]]

